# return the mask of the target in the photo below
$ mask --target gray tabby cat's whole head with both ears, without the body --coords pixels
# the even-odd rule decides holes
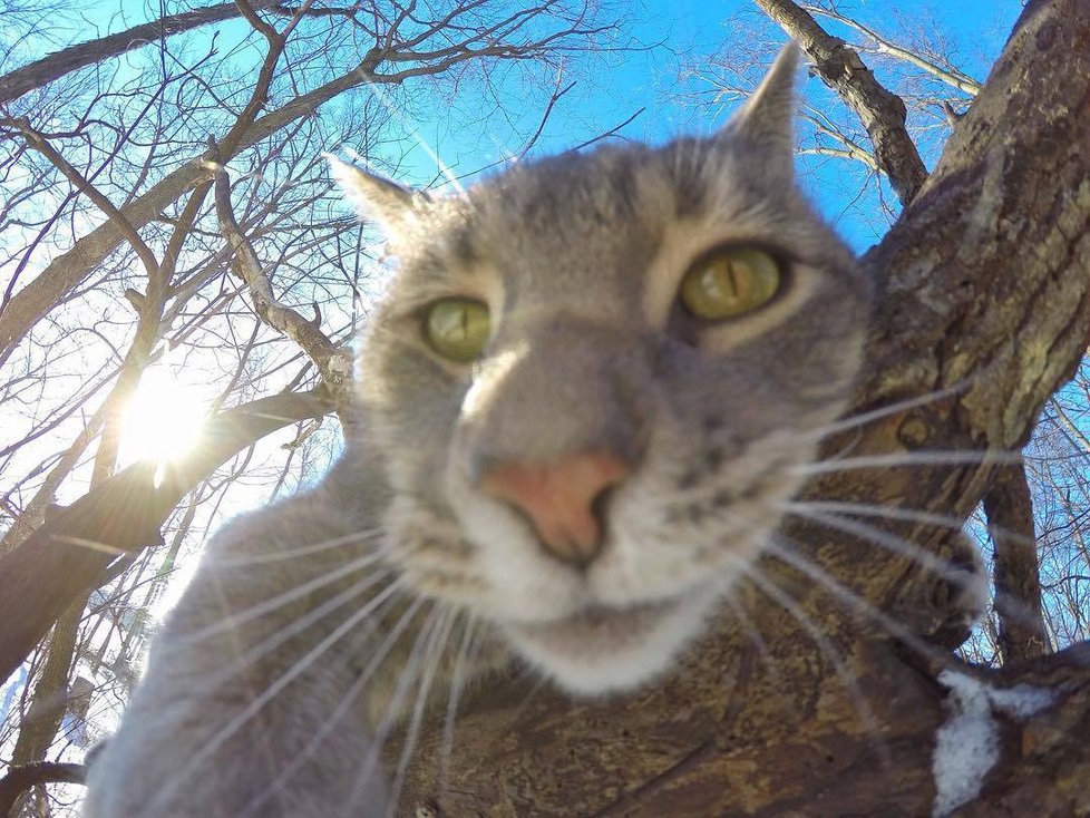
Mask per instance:
[[[670,666],[850,397],[868,288],[794,186],[794,61],[707,140],[439,202],[339,169],[399,259],[360,360],[390,561],[573,692]]]

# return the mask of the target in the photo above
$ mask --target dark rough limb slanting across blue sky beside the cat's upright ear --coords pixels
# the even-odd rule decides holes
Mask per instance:
[[[878,166],[889,177],[901,203],[912,202],[927,169],[905,130],[905,104],[874,78],[859,55],[833,37],[790,0],[756,0],[814,60],[818,75],[859,116],[874,143]]]

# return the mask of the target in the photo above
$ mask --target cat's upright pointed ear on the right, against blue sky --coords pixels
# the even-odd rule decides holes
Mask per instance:
[[[724,132],[742,136],[755,147],[767,149],[770,162],[781,164],[788,177],[795,164],[795,116],[799,48],[788,42],[776,57],[760,86],[730,118]]]

